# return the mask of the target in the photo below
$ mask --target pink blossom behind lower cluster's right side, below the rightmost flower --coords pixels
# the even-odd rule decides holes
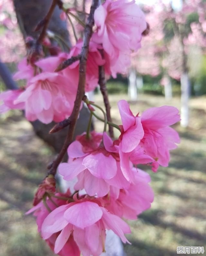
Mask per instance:
[[[120,189],[118,197],[114,189],[110,190],[110,200],[105,207],[119,217],[135,220],[137,215],[151,207],[154,192],[149,186],[150,176],[146,172],[133,168],[134,180],[128,189]]]

